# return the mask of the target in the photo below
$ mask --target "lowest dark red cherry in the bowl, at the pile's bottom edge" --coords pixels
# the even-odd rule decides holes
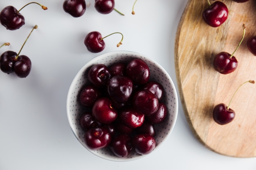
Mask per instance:
[[[116,136],[110,143],[110,150],[117,157],[128,157],[132,148],[132,138],[125,134]]]

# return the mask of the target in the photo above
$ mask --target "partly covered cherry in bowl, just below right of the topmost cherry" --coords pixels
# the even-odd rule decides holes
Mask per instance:
[[[161,100],[163,98],[164,88],[159,82],[149,81],[143,86],[143,89],[151,91],[154,95],[157,96],[158,100]]]

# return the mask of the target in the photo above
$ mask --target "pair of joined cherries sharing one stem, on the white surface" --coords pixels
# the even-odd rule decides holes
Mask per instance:
[[[29,75],[31,70],[31,60],[26,55],[20,55],[20,52],[23,49],[32,31],[34,29],[37,29],[37,27],[38,26],[35,25],[30,31],[18,54],[14,51],[5,51],[4,53],[2,53],[2,55],[0,56],[0,69],[2,70],[2,72],[7,74],[14,72],[16,73],[16,75],[18,75],[18,77],[21,78],[27,77],[27,75]]]

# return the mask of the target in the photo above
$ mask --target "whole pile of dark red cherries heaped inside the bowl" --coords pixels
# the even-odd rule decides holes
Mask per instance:
[[[94,64],[86,76],[78,101],[85,107],[79,124],[88,148],[109,147],[117,157],[128,157],[132,150],[140,155],[152,152],[154,126],[164,121],[168,110],[161,102],[164,88],[150,80],[146,62]]]

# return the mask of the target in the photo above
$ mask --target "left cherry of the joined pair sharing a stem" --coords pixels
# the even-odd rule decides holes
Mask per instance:
[[[16,62],[17,53],[14,51],[5,51],[0,56],[0,68],[4,73],[13,73],[13,64]]]

